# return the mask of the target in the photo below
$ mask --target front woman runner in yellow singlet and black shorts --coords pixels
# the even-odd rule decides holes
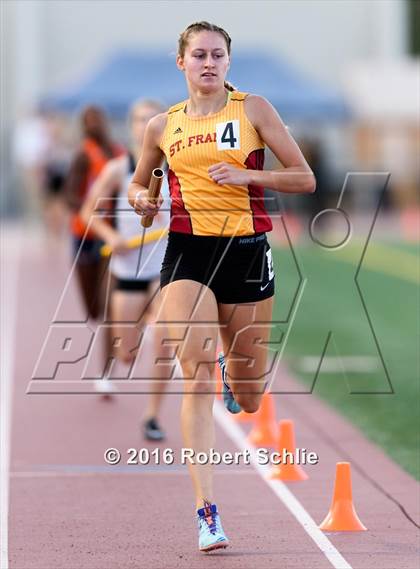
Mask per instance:
[[[274,271],[263,188],[315,191],[311,169],[271,104],[225,82],[230,44],[229,35],[208,22],[192,24],[181,34],[177,66],[185,74],[189,98],[149,122],[129,188],[135,211],[156,215],[162,198],[149,199],[147,186],[153,168],[166,157],[172,205],[161,270],[162,320],[172,339],[183,338],[178,351],[184,376],[181,424],[184,446],[196,453],[214,447],[214,388],[209,383],[219,329],[231,400],[254,413],[264,391]],[[265,145],[283,170],[263,170]],[[189,469],[199,549],[224,548],[228,539],[213,501],[211,464]]]

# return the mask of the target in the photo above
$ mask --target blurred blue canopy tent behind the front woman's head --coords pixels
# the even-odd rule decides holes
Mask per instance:
[[[41,105],[73,112],[95,103],[111,116],[122,118],[138,98],[176,103],[187,97],[187,91],[174,59],[161,52],[118,51],[79,84],[46,95]],[[228,78],[241,91],[267,97],[287,121],[338,121],[349,114],[338,93],[263,53],[235,52]]]

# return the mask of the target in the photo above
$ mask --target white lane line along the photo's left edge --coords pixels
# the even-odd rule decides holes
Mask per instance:
[[[9,466],[12,382],[15,361],[17,282],[21,229],[1,231],[0,316],[0,567],[9,567]],[[6,243],[7,241],[7,243]]]

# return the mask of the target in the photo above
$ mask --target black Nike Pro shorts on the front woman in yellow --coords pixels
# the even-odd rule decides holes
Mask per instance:
[[[217,302],[258,302],[274,295],[271,248],[265,233],[207,237],[170,232],[161,288],[189,279],[210,288]]]

